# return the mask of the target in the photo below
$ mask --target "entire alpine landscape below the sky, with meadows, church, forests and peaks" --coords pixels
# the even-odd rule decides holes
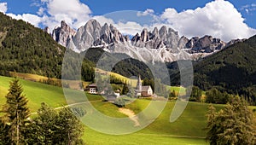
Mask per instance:
[[[224,42],[163,25],[127,36],[94,19],[49,32],[0,12],[0,144],[254,145],[255,54],[256,35]],[[193,86],[180,83],[187,68]]]

